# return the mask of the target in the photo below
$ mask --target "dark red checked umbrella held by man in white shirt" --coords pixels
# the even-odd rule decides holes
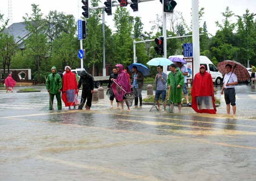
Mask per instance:
[[[232,73],[236,74],[238,81],[247,81],[250,78],[248,70],[239,62],[233,60],[225,60],[218,62],[217,68],[224,75],[226,74],[226,65],[232,65]]]

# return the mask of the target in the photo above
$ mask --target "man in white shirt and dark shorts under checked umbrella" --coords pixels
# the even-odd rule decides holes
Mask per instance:
[[[237,76],[232,70],[232,65],[227,64],[225,66],[227,74],[225,74],[223,79],[223,86],[221,94],[224,91],[224,98],[227,105],[227,113],[230,114],[230,104],[232,106],[233,114],[236,114],[236,91],[235,85],[238,83]]]

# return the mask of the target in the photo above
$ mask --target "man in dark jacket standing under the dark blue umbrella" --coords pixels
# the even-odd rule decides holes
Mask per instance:
[[[144,76],[141,71],[137,70],[137,67],[135,65],[132,67],[132,70],[133,70],[132,86],[133,86],[133,94],[135,95],[134,106],[138,106],[138,98],[140,100],[140,106],[142,106],[141,88],[143,87]]]

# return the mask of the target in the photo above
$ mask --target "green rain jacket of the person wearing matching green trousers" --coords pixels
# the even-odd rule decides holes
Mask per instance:
[[[46,80],[46,89],[50,89],[50,94],[58,94],[58,90],[62,88],[61,75],[55,73],[48,75]]]

